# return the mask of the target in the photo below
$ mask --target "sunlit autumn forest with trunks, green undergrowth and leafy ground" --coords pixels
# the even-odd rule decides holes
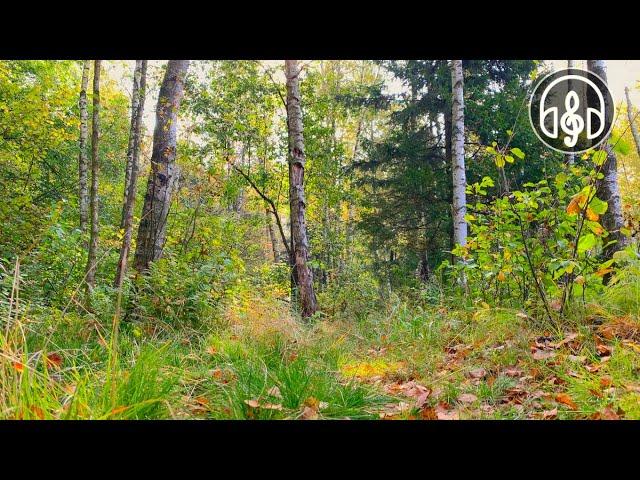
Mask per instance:
[[[612,63],[0,60],[0,419],[640,419]],[[584,152],[564,68],[624,84]]]

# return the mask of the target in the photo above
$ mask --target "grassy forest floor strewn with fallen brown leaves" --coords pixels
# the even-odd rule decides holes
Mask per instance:
[[[559,329],[487,304],[338,310],[304,323],[246,289],[198,328],[22,318],[2,336],[0,417],[640,418],[637,315],[588,304]]]

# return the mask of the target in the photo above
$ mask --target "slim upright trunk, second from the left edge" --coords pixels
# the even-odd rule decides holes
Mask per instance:
[[[100,60],[93,63],[93,123],[91,132],[91,238],[87,256],[87,289],[96,284],[96,256],[98,252],[98,144],[100,141]]]

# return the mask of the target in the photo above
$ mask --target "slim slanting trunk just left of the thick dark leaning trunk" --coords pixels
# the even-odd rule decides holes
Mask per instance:
[[[139,62],[139,63],[138,63]],[[137,74],[137,75],[136,75]],[[138,184],[138,170],[140,157],[140,143],[142,133],[142,118],[144,115],[145,89],[147,84],[147,60],[136,60],[136,74],[133,79],[134,96],[131,100],[131,129],[129,131],[129,152],[127,152],[127,173],[125,179],[124,207],[122,212],[122,247],[120,259],[116,270],[114,285],[122,286],[124,276],[127,273],[129,250],[131,250],[131,237],[133,235],[133,210],[136,205],[136,187]]]

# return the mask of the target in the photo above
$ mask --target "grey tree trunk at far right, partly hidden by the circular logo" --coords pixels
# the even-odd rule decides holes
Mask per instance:
[[[607,65],[604,60],[588,60],[587,68],[598,75],[604,82],[607,82]],[[629,239],[620,231],[624,227],[624,216],[622,215],[622,200],[620,197],[620,185],[618,184],[618,161],[613,152],[613,148],[608,144],[608,139],[604,143],[607,152],[607,159],[602,166],[604,178],[598,185],[598,196],[605,200],[609,207],[603,215],[602,225],[609,231],[617,242],[605,251],[605,256],[610,257],[614,252],[624,248]]]

